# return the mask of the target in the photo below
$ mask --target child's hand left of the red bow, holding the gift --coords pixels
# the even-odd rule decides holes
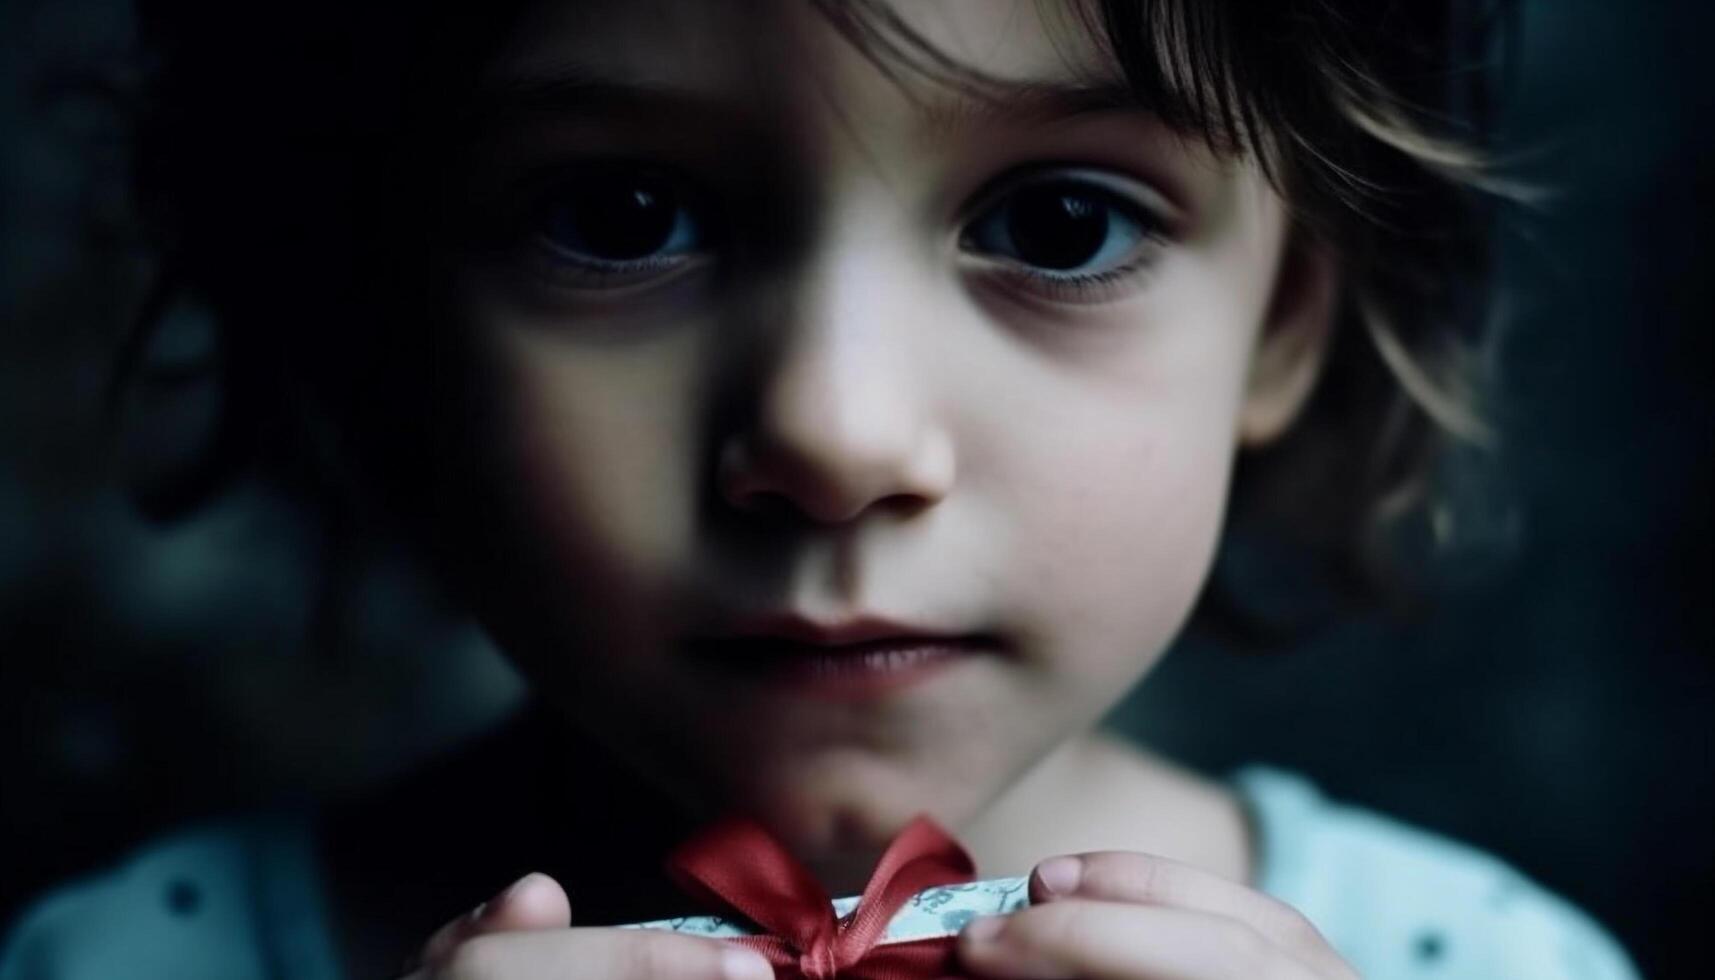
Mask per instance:
[[[405,980],[770,980],[760,954],[653,929],[571,929],[554,879],[532,874],[442,925]]]

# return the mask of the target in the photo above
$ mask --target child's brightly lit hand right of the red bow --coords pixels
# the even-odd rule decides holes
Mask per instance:
[[[1291,906],[1134,851],[1050,858],[1031,908],[979,918],[959,958],[979,977],[1029,980],[1355,980]]]

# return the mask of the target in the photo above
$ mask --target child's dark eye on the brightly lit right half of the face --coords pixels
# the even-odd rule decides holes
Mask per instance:
[[[1137,204],[1087,180],[1058,177],[1005,194],[971,223],[964,244],[1044,273],[1080,276],[1122,266],[1154,233]]]

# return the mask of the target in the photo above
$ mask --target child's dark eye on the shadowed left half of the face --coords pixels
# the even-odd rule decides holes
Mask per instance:
[[[575,276],[648,280],[707,251],[688,197],[677,182],[647,170],[578,173],[540,199],[535,237]]]

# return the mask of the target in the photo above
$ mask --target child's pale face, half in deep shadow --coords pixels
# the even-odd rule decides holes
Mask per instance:
[[[501,233],[454,276],[509,515],[485,614],[641,771],[804,851],[962,826],[1096,723],[1297,398],[1252,379],[1281,203],[1103,106],[1050,7],[899,3],[1038,86],[1000,103],[888,81],[797,0],[549,3],[494,67],[520,105],[466,199]],[[991,642],[835,697],[686,644],[770,614]]]

